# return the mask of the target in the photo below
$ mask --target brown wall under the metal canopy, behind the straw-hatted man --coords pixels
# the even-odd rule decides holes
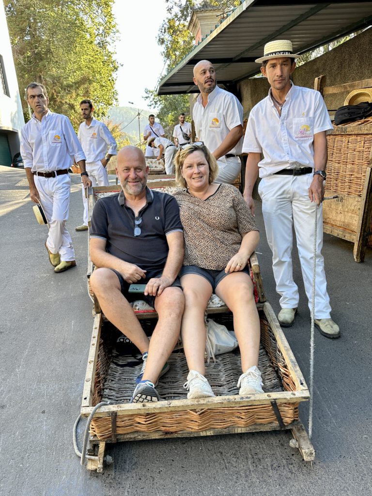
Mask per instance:
[[[336,86],[338,84],[372,78],[372,28],[346,41],[316,59],[296,67],[293,73],[293,82],[298,86],[314,87],[314,79],[320,75],[323,86]],[[257,64],[257,67],[258,64]],[[250,78],[239,83],[242,94],[242,105],[245,115],[262,98],[267,96],[269,84],[266,78]],[[335,93],[325,95],[324,101],[329,110],[335,110],[344,104],[348,95]]]

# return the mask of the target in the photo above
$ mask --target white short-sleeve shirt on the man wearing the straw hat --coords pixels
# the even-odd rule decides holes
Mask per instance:
[[[258,164],[260,178],[283,169],[313,168],[314,134],[328,129],[332,129],[332,124],[321,94],[292,83],[280,117],[271,89],[268,96],[253,107],[243,152],[262,152],[264,158]]]

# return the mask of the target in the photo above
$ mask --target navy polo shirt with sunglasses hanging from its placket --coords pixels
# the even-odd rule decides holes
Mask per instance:
[[[106,251],[146,270],[146,278],[162,272],[168,257],[167,235],[183,232],[176,199],[146,186],[146,205],[139,211],[141,234],[134,236],[134,212],[123,191],[100,198],[94,206],[90,237],[106,241]]]

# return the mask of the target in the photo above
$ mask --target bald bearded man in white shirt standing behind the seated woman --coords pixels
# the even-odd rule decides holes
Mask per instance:
[[[196,136],[217,159],[216,182],[233,183],[241,170],[243,107],[236,96],[217,86],[211,62],[199,61],[193,80],[200,90],[192,111]]]

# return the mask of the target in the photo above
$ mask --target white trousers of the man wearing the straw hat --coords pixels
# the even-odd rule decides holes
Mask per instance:
[[[258,186],[266,236],[272,251],[276,291],[282,308],[297,308],[299,291],[293,280],[292,245],[294,225],[305,291],[311,311],[315,202],[309,199],[312,174],[272,175]],[[316,233],[315,318],[329,318],[331,307],[324,273],[323,209],[318,207]]]

